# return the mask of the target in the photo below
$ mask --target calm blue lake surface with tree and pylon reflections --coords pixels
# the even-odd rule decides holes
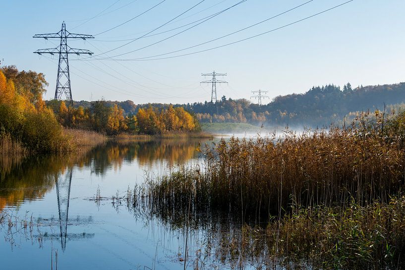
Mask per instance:
[[[183,269],[184,216],[134,211],[112,197],[146,175],[203,162],[200,141],[210,143],[110,142],[74,155],[0,158],[0,269]],[[219,251],[232,237],[230,218],[214,223],[188,231],[187,269],[235,267]]]

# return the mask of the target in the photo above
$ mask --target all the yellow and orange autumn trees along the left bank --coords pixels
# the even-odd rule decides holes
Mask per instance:
[[[85,107],[46,103],[42,95],[47,85],[43,73],[19,71],[15,66],[0,68],[0,153],[70,151],[75,147],[73,135],[63,127],[107,135],[201,130],[195,116],[180,107],[149,105],[128,113],[124,108],[131,108],[132,102],[124,108],[106,101],[89,102]]]

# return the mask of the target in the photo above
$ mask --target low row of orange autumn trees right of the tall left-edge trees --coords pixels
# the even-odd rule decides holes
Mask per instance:
[[[64,101],[50,101],[59,123],[69,128],[90,129],[107,135],[122,132],[130,134],[163,134],[166,132],[201,131],[198,120],[182,107],[138,109],[128,114],[116,104],[106,101],[90,103],[89,108],[67,107]]]

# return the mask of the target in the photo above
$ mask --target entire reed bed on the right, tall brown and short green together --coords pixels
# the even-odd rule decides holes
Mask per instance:
[[[202,151],[203,166],[147,179],[132,206],[146,201],[174,228],[191,215],[190,228],[206,228],[218,256],[239,266],[403,269],[405,137],[378,120],[221,140]],[[228,220],[220,233],[215,218]]]

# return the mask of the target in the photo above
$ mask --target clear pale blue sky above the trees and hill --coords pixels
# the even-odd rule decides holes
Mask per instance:
[[[137,59],[225,36],[308,0],[246,0],[231,7],[239,1],[3,1],[0,59],[3,59],[2,65],[44,73],[49,82],[45,99],[52,99],[58,55],[33,52],[55,48],[60,40],[34,39],[32,36],[56,33],[64,21],[70,33],[95,35],[94,39],[86,41],[68,40],[71,48],[94,53],[91,57],[69,54],[72,96],[76,101],[132,100],[135,104],[210,101],[211,85],[200,84],[210,78],[201,73],[214,70],[227,73],[218,79],[229,82],[217,85],[218,99],[225,95],[257,102],[251,99],[251,91],[261,89],[269,91],[265,103],[279,95],[304,93],[317,85],[343,87],[350,82],[355,87],[405,81],[404,0],[353,0],[304,21],[222,48],[167,59]],[[244,31],[165,56],[195,53],[243,40],[346,1],[312,0]],[[196,25],[203,21],[201,19],[227,8]],[[111,28],[114,29],[102,33]],[[179,33],[183,30],[186,31]],[[179,34],[169,38],[176,33]],[[152,36],[142,37],[145,34]],[[156,42],[159,43],[152,45]],[[145,46],[148,47],[143,48]],[[130,51],[135,52],[126,54]],[[118,54],[123,55],[116,56]],[[101,59],[106,57],[110,58]]]

